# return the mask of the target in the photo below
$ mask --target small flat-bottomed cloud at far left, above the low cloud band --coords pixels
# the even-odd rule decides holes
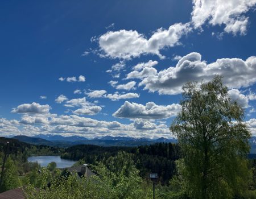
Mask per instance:
[[[49,105],[40,105],[40,103],[23,103],[11,111],[11,113],[21,114],[48,114],[51,107]]]

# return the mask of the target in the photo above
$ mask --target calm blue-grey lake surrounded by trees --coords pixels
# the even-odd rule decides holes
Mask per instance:
[[[73,164],[76,163],[76,161],[61,159],[60,156],[52,156],[52,155],[31,156],[31,157],[28,157],[27,160],[31,162],[37,161],[41,165],[41,167],[47,167],[47,165],[51,163],[51,161],[55,161],[55,163],[57,164],[57,168],[71,167]]]

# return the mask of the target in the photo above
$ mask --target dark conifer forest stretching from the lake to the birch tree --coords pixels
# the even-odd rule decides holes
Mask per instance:
[[[159,181],[168,184],[175,172],[175,160],[179,159],[179,146],[172,143],[155,143],[138,147],[102,147],[78,145],[65,149],[61,158],[79,160],[77,164],[96,164],[106,161],[120,151],[131,154],[140,175],[147,179],[149,173],[158,173]]]

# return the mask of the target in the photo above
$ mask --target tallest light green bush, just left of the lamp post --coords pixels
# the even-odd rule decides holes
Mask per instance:
[[[118,152],[94,167],[104,184],[112,190],[112,198],[147,198],[148,190],[143,189],[143,180],[135,167],[131,154]]]

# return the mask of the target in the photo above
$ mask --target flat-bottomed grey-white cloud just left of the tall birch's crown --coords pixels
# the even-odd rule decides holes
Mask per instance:
[[[163,119],[175,116],[180,109],[180,105],[176,103],[168,106],[159,106],[154,102],[148,102],[146,105],[142,105],[126,101],[117,111],[115,111],[115,113],[113,113],[113,116],[130,119]]]

